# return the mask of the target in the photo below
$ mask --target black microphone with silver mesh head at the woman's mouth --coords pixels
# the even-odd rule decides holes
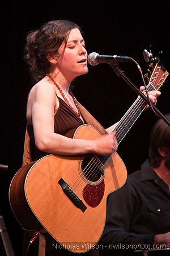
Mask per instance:
[[[97,52],[92,52],[88,55],[88,63],[92,66],[96,66],[100,63],[114,64],[115,61],[125,62],[134,61],[133,58],[128,56],[118,56],[118,55],[100,55]]]

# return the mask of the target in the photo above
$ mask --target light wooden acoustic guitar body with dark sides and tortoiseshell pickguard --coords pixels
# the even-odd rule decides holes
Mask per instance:
[[[82,125],[73,138],[100,136],[94,127]],[[9,192],[11,208],[24,229],[44,228],[54,241],[75,253],[88,251],[99,241],[107,197],[127,178],[125,164],[116,152],[104,166],[97,159],[92,171],[94,156],[87,167],[84,161],[86,156],[47,155],[22,167],[12,179]],[[71,189],[71,199],[66,187]],[[77,201],[80,204],[76,205]]]

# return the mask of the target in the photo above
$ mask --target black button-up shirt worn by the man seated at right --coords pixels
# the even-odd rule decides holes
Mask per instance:
[[[113,250],[108,250],[113,249],[112,245],[127,253],[124,249],[129,245],[134,246],[133,250],[140,249],[140,245],[152,247],[155,234],[169,231],[169,188],[146,160],[141,170],[128,176],[122,188],[109,195],[107,221],[99,243],[104,253],[114,255]]]

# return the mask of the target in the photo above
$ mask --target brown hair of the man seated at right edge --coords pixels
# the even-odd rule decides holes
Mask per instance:
[[[165,115],[170,121],[170,113]],[[153,168],[159,167],[162,156],[158,148],[170,150],[170,127],[162,119],[159,119],[151,130],[149,159]]]

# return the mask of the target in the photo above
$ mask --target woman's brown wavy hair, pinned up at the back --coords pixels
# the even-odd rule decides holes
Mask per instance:
[[[47,55],[58,54],[58,48],[67,43],[69,32],[80,27],[69,20],[51,20],[27,35],[24,60],[28,64],[33,83],[40,81],[49,72]]]

